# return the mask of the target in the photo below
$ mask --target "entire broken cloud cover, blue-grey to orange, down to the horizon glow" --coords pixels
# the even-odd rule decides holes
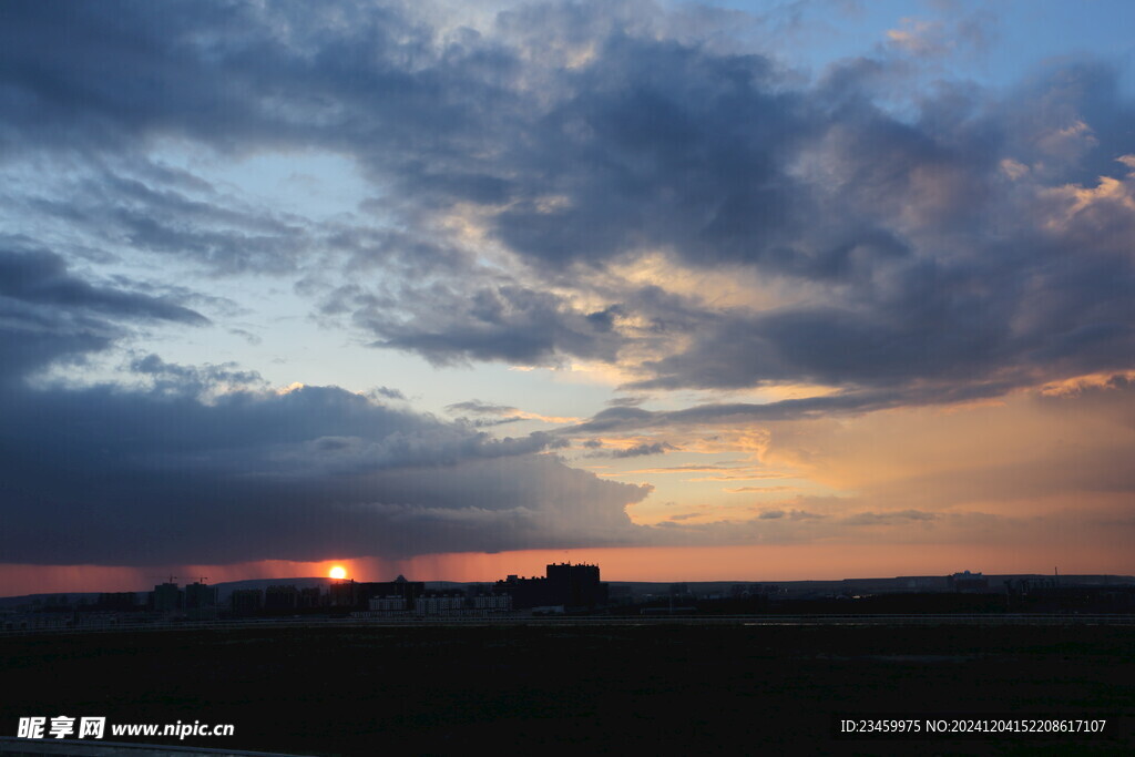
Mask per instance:
[[[939,76],[964,43],[985,44],[982,17],[960,36],[911,20],[807,73],[732,34],[741,17],[721,10],[451,10],[3,3],[0,560],[942,529],[955,521],[896,494],[910,481],[826,511],[807,496],[750,505],[743,527],[679,525],[686,513],[645,529],[625,508],[649,486],[549,453],[580,441],[617,462],[696,451],[692,429],[746,428],[772,439],[747,454],[802,464],[807,445],[784,441],[793,423],[1069,381],[1107,385],[1108,407],[1128,396],[1135,112],[1118,69],[1063,59],[999,91]],[[194,168],[304,154],[352,167],[364,191],[350,210],[294,212]],[[582,421],[468,401],[451,421],[397,389],[280,392],[254,365],[167,361],[154,334],[249,334],[226,321],[251,305],[209,281],[270,281],[379,354],[597,365],[641,396]],[[81,380],[98,360],[121,363],[115,381]],[[810,388],[751,399],[784,387]],[[639,406],[648,395],[681,399]],[[521,422],[560,428],[486,430]],[[588,441],[599,434],[630,440]],[[1108,473],[1121,457],[1093,480],[1129,493]],[[1067,488],[1017,462],[981,480]]]

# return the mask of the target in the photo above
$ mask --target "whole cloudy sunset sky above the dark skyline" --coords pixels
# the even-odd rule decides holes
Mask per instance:
[[[0,594],[1135,572],[1133,26],[0,5]]]

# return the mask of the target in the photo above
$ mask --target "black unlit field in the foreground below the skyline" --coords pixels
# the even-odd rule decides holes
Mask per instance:
[[[180,743],[308,755],[1132,754],[1133,641],[1099,626],[16,637],[0,639],[0,735],[20,716],[104,715],[233,723]],[[1118,738],[833,740],[832,713],[1108,716]]]

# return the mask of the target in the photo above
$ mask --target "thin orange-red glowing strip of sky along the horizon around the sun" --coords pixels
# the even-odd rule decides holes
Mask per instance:
[[[998,545],[745,545],[728,547],[607,547],[451,553],[405,560],[358,557],[299,562],[260,561],[233,565],[178,566],[176,575],[208,575],[210,583],[252,579],[329,577],[335,567],[359,581],[389,581],[400,573],[417,581],[493,582],[510,574],[544,575],[557,562],[598,564],[604,581],[836,581],[851,578],[985,574],[1129,575],[1120,552],[1092,554],[1044,545],[1006,549]],[[166,575],[162,575],[165,573]],[[50,592],[145,591],[168,577],[153,566],[0,565],[0,596]]]

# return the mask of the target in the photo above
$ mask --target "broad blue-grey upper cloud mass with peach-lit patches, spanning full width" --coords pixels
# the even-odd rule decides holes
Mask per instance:
[[[40,212],[221,272],[346,253],[370,275],[311,285],[378,347],[619,363],[642,388],[902,389],[1125,369],[1135,346],[1132,108],[1099,64],[897,109],[909,44],[807,81],[666,36],[647,3],[526,6],[480,31],[397,5],[5,12],[2,138],[135,157]],[[30,41],[60,22],[48,65]],[[229,207],[137,162],[169,138],[348,155],[381,229]],[[644,255],[764,289],[717,306],[620,275]]]

